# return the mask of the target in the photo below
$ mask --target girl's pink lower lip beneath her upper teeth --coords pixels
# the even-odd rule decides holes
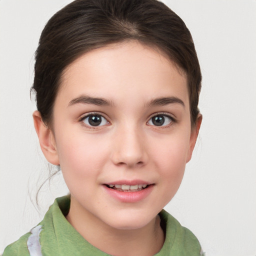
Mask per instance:
[[[149,193],[153,189],[153,185],[149,185],[140,191],[123,192],[123,191],[109,188],[106,185],[103,185],[103,187],[105,188],[106,192],[111,197],[113,197],[121,202],[138,202],[140,200],[143,200],[144,198],[146,198],[149,195]]]

